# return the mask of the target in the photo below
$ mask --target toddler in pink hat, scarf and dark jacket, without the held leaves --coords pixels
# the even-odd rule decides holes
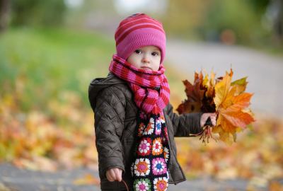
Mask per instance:
[[[115,32],[116,54],[110,73],[88,90],[95,113],[101,190],[167,190],[185,181],[174,137],[202,132],[215,113],[177,115],[163,61],[166,34],[144,13],[121,21]],[[123,182],[122,182],[123,180]]]

